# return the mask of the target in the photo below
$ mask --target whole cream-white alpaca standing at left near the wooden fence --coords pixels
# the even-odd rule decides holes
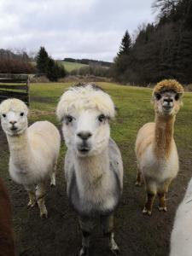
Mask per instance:
[[[46,181],[50,177],[51,184],[55,185],[61,136],[48,121],[36,122],[27,128],[27,113],[26,104],[18,99],[0,104],[1,123],[9,143],[9,174],[26,188],[30,199],[28,206],[34,207],[37,200],[40,216],[47,217]]]

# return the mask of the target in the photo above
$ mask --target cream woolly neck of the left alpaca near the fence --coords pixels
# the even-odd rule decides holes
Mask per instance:
[[[27,166],[28,162],[32,160],[31,148],[28,142],[27,130],[20,135],[7,135],[10,158],[12,163],[18,168]]]

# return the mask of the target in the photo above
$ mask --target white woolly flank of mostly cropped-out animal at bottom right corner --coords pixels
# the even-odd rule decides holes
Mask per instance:
[[[192,179],[177,208],[171,236],[170,256],[192,255]]]

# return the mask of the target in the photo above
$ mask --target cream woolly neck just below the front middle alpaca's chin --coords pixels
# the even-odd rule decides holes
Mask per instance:
[[[89,187],[101,184],[109,171],[108,148],[94,156],[76,157],[75,170],[79,183]]]

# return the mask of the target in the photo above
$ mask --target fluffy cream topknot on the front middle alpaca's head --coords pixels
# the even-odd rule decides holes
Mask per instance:
[[[115,108],[111,97],[96,84],[76,84],[61,96],[56,114],[62,119],[73,109],[97,109],[108,118],[113,118]]]

